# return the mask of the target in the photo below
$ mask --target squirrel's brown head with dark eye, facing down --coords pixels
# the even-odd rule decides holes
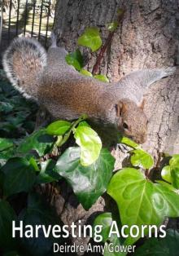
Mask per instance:
[[[121,99],[116,104],[117,125],[129,138],[136,143],[146,141],[147,118],[143,113],[143,104],[138,106],[129,99]]]

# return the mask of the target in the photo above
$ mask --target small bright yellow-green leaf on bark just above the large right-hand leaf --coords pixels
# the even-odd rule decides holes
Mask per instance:
[[[151,155],[142,149],[134,149],[130,161],[133,166],[150,169],[154,165],[154,160]]]

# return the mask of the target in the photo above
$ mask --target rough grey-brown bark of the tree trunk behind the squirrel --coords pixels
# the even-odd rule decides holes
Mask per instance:
[[[55,32],[61,33],[59,44],[68,51],[77,47],[76,39],[89,26],[98,26],[103,42],[107,39],[105,25],[115,20],[118,8],[125,10],[124,20],[114,35],[110,51],[101,65],[101,73],[111,81],[118,81],[125,74],[141,68],[155,68],[179,64],[179,2],[178,0],[60,0],[55,15]],[[91,70],[96,54],[88,56]],[[147,141],[143,145],[148,152],[159,157],[159,152],[179,152],[179,77],[178,72],[151,86],[146,95],[145,113],[149,118]],[[120,155],[116,152],[118,163]],[[72,196],[72,193],[70,193]],[[100,199],[85,212],[81,205],[69,204],[72,198],[55,198],[64,223],[83,219],[103,210]],[[74,199],[74,197],[73,197]],[[66,202],[65,202],[66,201]],[[78,241],[81,242],[81,241]]]

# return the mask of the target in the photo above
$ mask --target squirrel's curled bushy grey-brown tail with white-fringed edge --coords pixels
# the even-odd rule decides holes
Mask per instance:
[[[12,85],[24,95],[37,95],[46,66],[46,50],[33,38],[15,38],[5,51],[3,68]]]

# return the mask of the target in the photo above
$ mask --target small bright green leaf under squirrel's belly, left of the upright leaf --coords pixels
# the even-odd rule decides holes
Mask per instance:
[[[55,121],[46,128],[48,135],[64,135],[72,126],[69,121]]]

